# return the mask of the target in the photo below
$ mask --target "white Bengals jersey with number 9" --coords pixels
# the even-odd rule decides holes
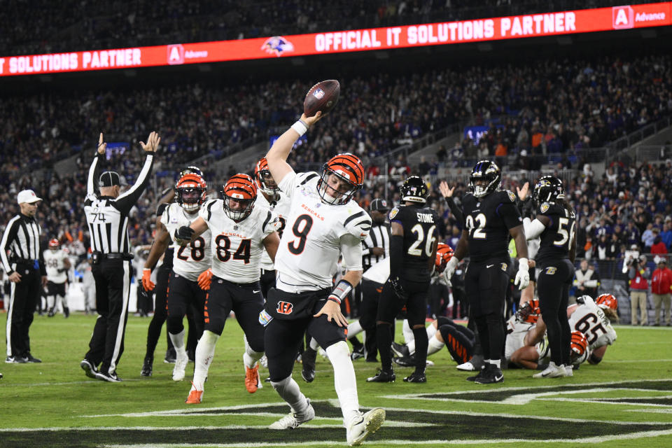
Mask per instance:
[[[319,179],[314,172],[289,172],[278,185],[291,202],[275,256],[276,288],[286,292],[331,288],[345,246],[347,269],[362,270],[361,241],[369,235],[371,218],[353,200],[322,202]]]

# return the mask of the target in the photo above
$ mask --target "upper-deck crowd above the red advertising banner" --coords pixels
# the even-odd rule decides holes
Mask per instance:
[[[633,1],[631,3],[646,3]],[[615,0],[94,1],[3,3],[0,55],[303,34],[500,15],[619,6]],[[25,11],[29,8],[30,13]],[[222,13],[222,11],[227,11]]]

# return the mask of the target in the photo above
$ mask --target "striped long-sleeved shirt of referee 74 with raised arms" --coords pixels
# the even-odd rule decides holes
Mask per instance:
[[[97,153],[96,153],[97,154]],[[149,183],[154,154],[148,153],[140,175],[133,186],[116,199],[100,196],[95,179],[101,157],[96,155],[89,169],[84,212],[89,225],[91,250],[102,253],[130,253],[128,214]]]

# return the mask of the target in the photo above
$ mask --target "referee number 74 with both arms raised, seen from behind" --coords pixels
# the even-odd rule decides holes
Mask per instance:
[[[130,297],[131,260],[128,241],[128,214],[144,192],[152,172],[154,155],[160,138],[149,134],[140,146],[147,153],[134,185],[120,195],[120,176],[106,171],[94,184],[106,144],[100,134],[98,151],[89,169],[84,211],[91,236],[92,273],[96,283],[96,311],[99,316],[89,342],[89,351],[80,363],[87,377],[119,382],[116,369],[124,351],[124,332]]]

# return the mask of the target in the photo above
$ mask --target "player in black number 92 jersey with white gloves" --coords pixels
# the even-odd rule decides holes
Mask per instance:
[[[510,237],[515,241],[519,256],[514,283],[522,290],[530,280],[527,244],[515,203],[516,195],[500,190],[501,180],[502,172],[494,162],[477,162],[469,183],[472,193],[463,199],[462,237],[444,270],[444,277],[449,280],[458,262],[470,255],[465,290],[470,301],[470,319],[475,321],[478,329],[485,365],[479,374],[468,380],[479,384],[504,380],[500,358],[505,341],[503,311],[509,283],[507,267],[511,262],[507,251]]]

